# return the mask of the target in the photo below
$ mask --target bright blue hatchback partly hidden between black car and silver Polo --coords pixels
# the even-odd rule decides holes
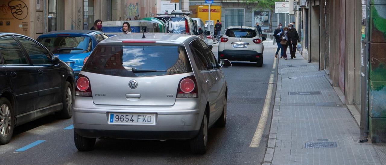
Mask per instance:
[[[95,30],[61,30],[40,35],[36,40],[71,66],[76,77],[95,46],[108,35]]]

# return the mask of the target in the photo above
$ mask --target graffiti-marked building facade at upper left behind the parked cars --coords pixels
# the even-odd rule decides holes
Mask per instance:
[[[2,0],[0,32],[36,39],[53,30],[90,29],[97,19],[134,20],[156,12],[157,0]]]

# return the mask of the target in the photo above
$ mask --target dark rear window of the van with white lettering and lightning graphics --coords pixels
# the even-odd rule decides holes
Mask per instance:
[[[185,34],[185,18],[182,17],[157,17],[166,24],[167,33]]]

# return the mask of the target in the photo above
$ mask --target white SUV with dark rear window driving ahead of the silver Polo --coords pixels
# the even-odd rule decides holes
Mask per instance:
[[[264,52],[262,41],[264,40],[266,37],[260,37],[254,27],[228,27],[218,44],[218,61],[220,59],[251,61],[261,67]]]

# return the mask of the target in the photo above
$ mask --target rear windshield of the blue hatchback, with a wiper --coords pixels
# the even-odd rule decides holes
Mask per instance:
[[[44,37],[37,39],[54,54],[74,54],[91,51],[90,37]]]

